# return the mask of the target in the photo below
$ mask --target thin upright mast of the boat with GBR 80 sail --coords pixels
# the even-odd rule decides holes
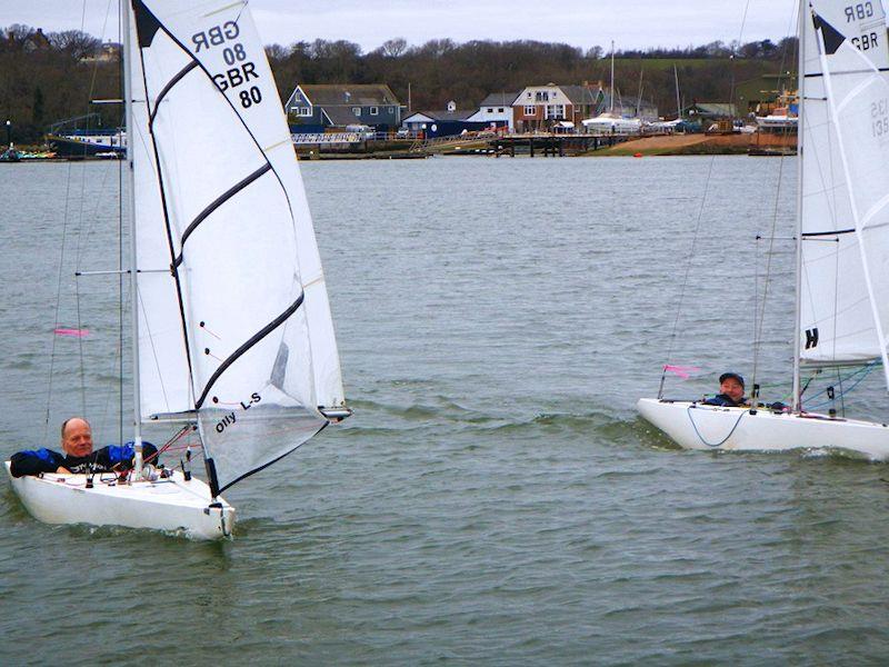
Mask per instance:
[[[133,479],[142,476],[142,417],[140,411],[141,396],[139,394],[139,281],[136,263],[136,182],[133,176],[132,155],[132,40],[130,36],[130,4],[129,0],[120,2],[121,20],[123,24],[123,94],[126,104],[124,127],[127,128],[127,217],[130,222],[130,320],[132,325],[132,440],[136,451],[133,465]]]

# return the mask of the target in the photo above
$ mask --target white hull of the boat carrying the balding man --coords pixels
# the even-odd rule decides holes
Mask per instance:
[[[210,487],[197,478],[189,481],[180,471],[170,479],[136,484],[107,484],[111,474],[96,474],[93,488],[86,475],[12,477],[12,489],[31,515],[46,524],[126,526],[183,532],[199,539],[231,535],[234,508],[222,498],[210,507]]]

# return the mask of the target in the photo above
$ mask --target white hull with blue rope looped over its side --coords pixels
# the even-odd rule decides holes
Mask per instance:
[[[787,451],[831,449],[889,460],[889,427],[826,415],[773,414],[690,401],[641,398],[641,416],[686,449]]]

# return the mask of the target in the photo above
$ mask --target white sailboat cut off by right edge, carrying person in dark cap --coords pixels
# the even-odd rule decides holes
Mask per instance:
[[[889,458],[889,426],[807,412],[807,368],[882,364],[889,384],[889,49],[880,2],[800,3],[799,185],[789,410],[642,398],[689,449],[826,448]],[[666,368],[665,368],[666,371]]]

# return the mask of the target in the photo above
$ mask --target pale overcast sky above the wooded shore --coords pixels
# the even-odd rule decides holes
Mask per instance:
[[[183,0],[184,1],[184,0]],[[394,37],[532,39],[588,49],[778,40],[793,30],[796,0],[250,0],[266,43],[346,39],[364,51]],[[0,0],[0,26],[82,29],[117,41],[117,0]],[[746,17],[745,17],[746,13]],[[106,27],[107,26],[107,27]]]

